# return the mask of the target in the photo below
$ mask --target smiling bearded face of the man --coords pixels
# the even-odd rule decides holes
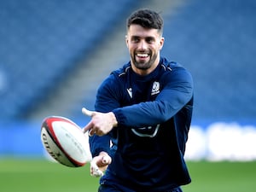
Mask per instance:
[[[157,29],[131,25],[126,36],[131,55],[131,67],[139,74],[151,73],[160,61],[160,49],[164,44]]]

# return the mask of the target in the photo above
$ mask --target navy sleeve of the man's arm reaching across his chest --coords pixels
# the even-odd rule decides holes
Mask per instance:
[[[134,128],[157,125],[172,118],[192,98],[193,80],[182,67],[166,75],[164,82],[166,84],[155,101],[113,109],[118,124]]]

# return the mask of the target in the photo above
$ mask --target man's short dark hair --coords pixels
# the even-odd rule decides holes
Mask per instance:
[[[148,29],[157,29],[163,32],[164,21],[160,14],[150,9],[138,9],[127,19],[127,29],[132,24],[137,24]]]

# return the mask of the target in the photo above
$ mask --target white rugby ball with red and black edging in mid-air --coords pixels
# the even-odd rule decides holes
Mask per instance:
[[[72,120],[50,116],[41,125],[44,148],[64,166],[84,166],[91,160],[89,137]]]

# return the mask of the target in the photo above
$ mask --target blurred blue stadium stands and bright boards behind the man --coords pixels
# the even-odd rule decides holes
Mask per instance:
[[[40,125],[83,126],[96,89],[129,60],[125,19],[165,20],[161,54],[188,68],[195,110],[188,160],[256,160],[254,0],[0,1],[0,156],[43,157]]]

